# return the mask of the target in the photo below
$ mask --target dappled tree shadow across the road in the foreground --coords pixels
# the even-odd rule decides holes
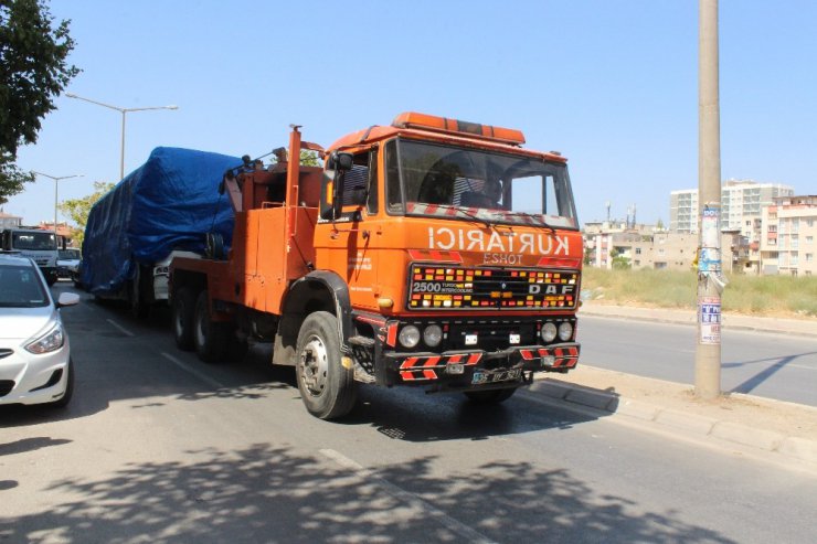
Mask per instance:
[[[677,512],[644,512],[567,470],[528,462],[439,478],[434,458],[363,474],[267,445],[185,456],[59,481],[46,491],[49,509],[0,514],[0,541],[731,542]]]

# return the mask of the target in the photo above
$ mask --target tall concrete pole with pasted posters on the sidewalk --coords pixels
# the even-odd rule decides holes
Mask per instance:
[[[718,0],[699,0],[698,53],[698,345],[696,395],[721,394],[721,146]]]

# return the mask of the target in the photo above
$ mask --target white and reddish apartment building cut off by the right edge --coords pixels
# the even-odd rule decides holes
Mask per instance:
[[[775,199],[761,224],[762,274],[817,275],[817,195]]]

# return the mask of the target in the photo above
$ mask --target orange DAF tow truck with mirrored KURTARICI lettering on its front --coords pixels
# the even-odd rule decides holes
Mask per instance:
[[[245,161],[221,190],[231,247],[170,266],[177,345],[204,361],[273,343],[306,408],[332,419],[360,383],[509,398],[579,361],[582,268],[566,160],[521,131],[405,113],[323,149]],[[301,166],[303,151],[325,167]]]

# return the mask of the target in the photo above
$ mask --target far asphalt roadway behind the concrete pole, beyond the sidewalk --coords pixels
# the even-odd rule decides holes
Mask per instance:
[[[580,364],[694,383],[696,328],[584,316]],[[721,388],[817,406],[817,338],[724,328]]]

